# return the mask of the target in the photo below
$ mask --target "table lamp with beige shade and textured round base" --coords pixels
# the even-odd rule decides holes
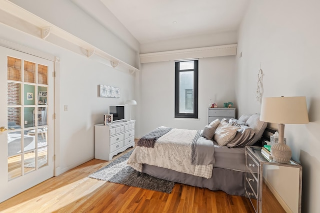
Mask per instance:
[[[284,124],[309,123],[305,97],[267,97],[262,98],[260,120],[277,123],[279,140],[271,146],[271,156],[279,163],[288,163],[291,149],[284,144]]]

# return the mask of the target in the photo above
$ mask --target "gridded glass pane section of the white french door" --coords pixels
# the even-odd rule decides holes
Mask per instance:
[[[47,66],[7,57],[8,180],[48,165],[47,74]]]

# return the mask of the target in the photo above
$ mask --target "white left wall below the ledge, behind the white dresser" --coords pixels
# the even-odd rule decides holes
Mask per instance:
[[[60,172],[65,172],[94,158],[94,124],[103,122],[103,114],[111,104],[124,104],[133,99],[135,76],[118,71],[85,56],[77,55],[11,27],[0,24],[0,38],[38,49],[60,58],[57,73],[60,91],[60,113],[56,119],[60,125],[59,150],[56,151]],[[125,53],[123,53],[125,54]],[[5,71],[5,70],[2,70]],[[120,98],[97,97],[97,85],[105,84],[120,88]],[[4,98],[4,97],[3,97]],[[68,105],[68,111],[63,106]],[[127,111],[126,111],[127,112]],[[126,115],[126,118],[128,114]]]

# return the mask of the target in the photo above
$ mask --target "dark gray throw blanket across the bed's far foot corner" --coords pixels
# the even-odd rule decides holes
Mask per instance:
[[[138,140],[137,145],[140,147],[153,148],[156,139],[168,133],[171,129],[172,128],[170,127],[158,127],[155,130],[149,132],[148,134],[142,136]]]

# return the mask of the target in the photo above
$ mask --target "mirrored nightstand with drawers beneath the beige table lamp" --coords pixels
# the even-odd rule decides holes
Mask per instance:
[[[302,166],[300,164],[292,160],[286,164],[269,162],[261,155],[261,147],[246,146],[245,165],[245,197],[250,200],[256,213],[279,212],[278,209],[272,209],[270,200],[266,200],[265,197],[270,199],[266,190],[270,190],[285,212],[301,213]],[[281,173],[286,174],[277,175]],[[282,185],[280,190],[282,193],[285,192],[283,198],[271,188],[272,184],[267,180],[269,178],[276,179],[277,184]]]

